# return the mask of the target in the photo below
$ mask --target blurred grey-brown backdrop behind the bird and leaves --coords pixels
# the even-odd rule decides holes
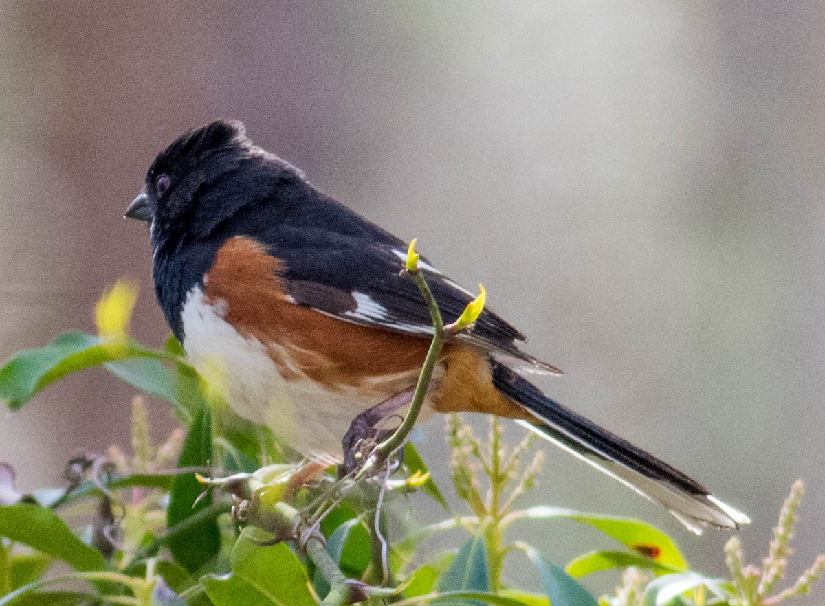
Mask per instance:
[[[124,209],[178,134],[238,118],[448,275],[483,282],[566,371],[542,388],[752,516],[752,561],[797,477],[791,573],[825,550],[820,2],[111,7],[0,2],[2,358],[93,330],[120,276],[142,284],[134,334],[163,342],[148,234]],[[73,376],[2,416],[0,459],[25,489],[54,484],[78,449],[128,442],[132,395]],[[167,406],[153,411],[163,434]],[[445,478],[442,435],[432,420],[421,439]],[[548,455],[528,504],[637,516],[724,573],[727,533],[697,538]],[[563,522],[513,531],[526,536],[561,564],[612,547]],[[517,558],[508,574],[539,586]]]

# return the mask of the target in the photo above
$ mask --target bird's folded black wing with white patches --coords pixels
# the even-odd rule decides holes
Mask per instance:
[[[417,285],[400,275],[407,245],[342,204],[319,196],[317,208],[303,220],[266,230],[263,243],[285,262],[285,280],[295,303],[365,326],[380,326],[416,336],[431,336],[432,322]],[[433,296],[445,322],[453,322],[474,294],[422,259]],[[559,373],[518,350],[525,336],[509,322],[484,309],[474,330],[460,336],[493,355],[518,361],[517,367]]]

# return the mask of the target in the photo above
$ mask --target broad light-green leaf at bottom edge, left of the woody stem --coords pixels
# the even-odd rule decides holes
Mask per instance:
[[[244,530],[231,562],[229,575],[200,580],[214,606],[315,606],[306,569],[286,543],[261,547]]]

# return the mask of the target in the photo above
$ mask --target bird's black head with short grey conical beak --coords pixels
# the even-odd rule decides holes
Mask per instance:
[[[265,172],[268,178],[252,178]],[[182,134],[158,154],[146,186],[126,217],[151,224],[153,247],[208,236],[219,223],[259,196],[256,183],[299,176],[299,171],[252,145],[235,120],[217,120]]]

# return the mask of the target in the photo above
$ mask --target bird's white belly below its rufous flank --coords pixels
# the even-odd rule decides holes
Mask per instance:
[[[290,373],[287,381],[268,351],[281,348],[241,335],[224,320],[225,312],[220,301],[206,303],[200,288],[190,292],[181,316],[186,355],[233,411],[270,427],[304,455],[340,454],[341,440],[361,411],[394,395],[398,386],[414,383],[415,374],[405,373],[372,382],[366,390],[331,390],[299,369],[291,369],[299,378]]]

